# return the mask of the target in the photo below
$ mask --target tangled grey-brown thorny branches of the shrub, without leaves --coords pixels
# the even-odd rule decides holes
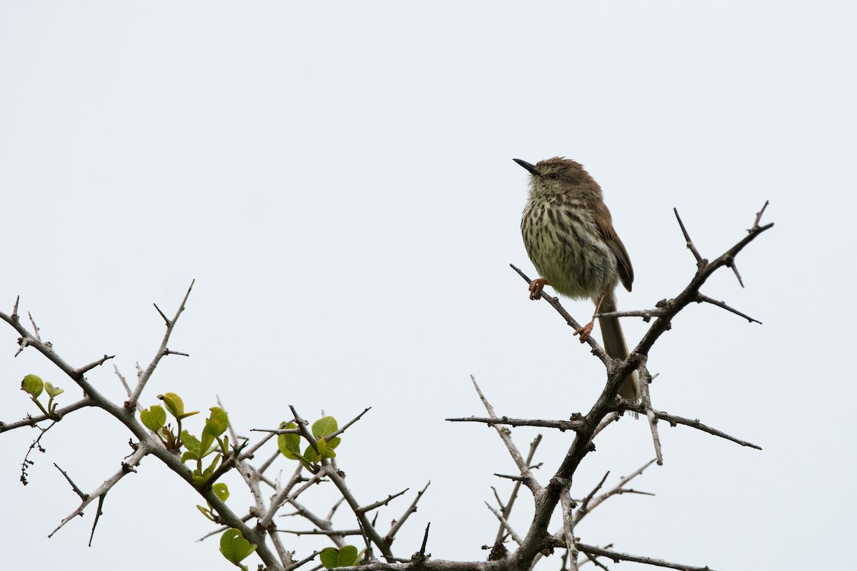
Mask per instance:
[[[259,467],[254,467],[249,463],[249,461],[253,459],[255,453],[257,453],[263,445],[273,439],[275,433],[282,433],[285,431],[271,431],[261,438],[261,442],[250,445],[249,440],[247,439],[243,439],[243,441],[239,443],[238,437],[235,432],[232,431],[230,426],[231,443],[234,443],[235,446],[231,450],[231,453],[224,458],[224,461],[228,462],[228,466],[225,464],[222,467],[223,469],[218,471],[218,475],[220,473],[224,473],[226,469],[233,465],[234,467],[237,467],[238,471],[242,474],[242,477],[249,486],[254,498],[253,506],[249,509],[248,514],[241,517],[234,514],[231,509],[226,507],[219,497],[213,493],[210,483],[207,486],[195,486],[195,489],[203,498],[206,499],[221,525],[225,527],[237,527],[243,533],[244,538],[247,538],[250,542],[257,544],[258,549],[256,554],[261,557],[262,562],[264,562],[269,570],[282,571],[284,569],[288,569],[291,571],[292,569],[296,569],[301,565],[312,561],[313,558],[318,555],[316,552],[312,556],[306,557],[303,560],[297,562],[293,561],[293,552],[285,550],[285,547],[280,542],[279,534],[281,533],[327,536],[333,544],[336,544],[337,546],[344,545],[344,536],[357,534],[362,535],[367,542],[368,562],[359,567],[341,568],[340,571],[526,571],[531,568],[532,564],[540,556],[542,556],[542,553],[548,553],[555,547],[561,547],[566,550],[567,562],[570,569],[577,568],[578,552],[584,554],[584,556],[588,556],[590,560],[600,568],[606,568],[606,566],[601,562],[597,562],[595,559],[596,556],[605,557],[613,560],[614,562],[642,562],[657,567],[675,568],[683,571],[707,569],[681,565],[673,562],[665,562],[645,556],[633,556],[604,548],[594,547],[589,544],[583,544],[580,542],[579,538],[575,537],[575,526],[579,524],[580,520],[582,520],[586,514],[589,514],[609,497],[614,497],[623,493],[646,493],[632,490],[627,488],[626,485],[631,479],[642,473],[646,467],[649,467],[652,462],[658,461],[658,463],[660,463],[662,459],[659,438],[657,437],[656,431],[657,419],[666,420],[671,425],[687,425],[717,437],[723,437],[735,443],[740,443],[743,446],[758,448],[755,444],[731,437],[722,431],[703,425],[698,420],[686,419],[657,411],[652,407],[650,393],[648,390],[644,391],[644,400],[640,404],[617,401],[616,395],[620,384],[629,372],[643,369],[646,365],[647,356],[652,345],[666,330],[671,327],[671,320],[687,305],[700,302],[708,303],[710,305],[721,307],[728,312],[733,312],[741,318],[746,318],[751,323],[758,323],[758,320],[747,316],[743,312],[735,310],[725,302],[714,300],[700,293],[699,289],[716,270],[724,266],[734,271],[735,276],[743,286],[740,273],[738,272],[737,265],[735,264],[735,258],[752,240],[773,226],[773,224],[760,225],[761,217],[766,206],[767,203],[765,203],[762,210],[757,213],[752,228],[748,230],[748,235],[735,243],[733,247],[730,247],[720,257],[710,262],[707,259],[704,259],[701,253],[698,252],[697,247],[693,245],[689,232],[680,217],[678,217],[678,212],[676,211],[676,217],[680,224],[680,229],[685,238],[686,245],[688,249],[691,250],[697,263],[696,274],[683,291],[671,299],[659,302],[656,304],[655,309],[638,312],[614,312],[610,314],[617,317],[638,316],[644,318],[644,321],[647,323],[653,321],[649,330],[646,331],[641,341],[638,342],[638,345],[633,349],[631,355],[626,360],[611,360],[604,352],[603,348],[594,341],[592,336],[590,336],[587,342],[590,343],[591,352],[604,363],[608,372],[608,379],[601,395],[590,408],[588,413],[575,413],[568,420],[515,419],[506,416],[498,416],[494,413],[494,408],[490,405],[487,398],[482,394],[482,390],[480,390],[478,384],[476,384],[475,378],[471,377],[474,389],[481,399],[483,406],[488,411],[488,417],[470,417],[449,420],[455,422],[479,422],[494,426],[495,431],[498,436],[500,436],[506,446],[506,449],[512,456],[512,460],[518,467],[519,475],[504,476],[504,478],[516,481],[515,489],[512,492],[512,496],[509,501],[506,505],[503,505],[503,503],[500,502],[499,497],[497,497],[497,501],[500,504],[499,511],[489,506],[489,509],[491,509],[498,520],[500,520],[498,544],[500,544],[504,531],[506,530],[512,534],[512,538],[519,544],[518,549],[512,554],[500,556],[494,561],[488,562],[451,562],[441,559],[432,559],[425,553],[425,541],[428,538],[427,527],[426,538],[423,540],[422,549],[412,556],[410,560],[404,560],[393,556],[393,551],[391,550],[393,539],[408,516],[416,511],[417,502],[423,496],[428,485],[426,485],[426,488],[423,488],[422,491],[417,493],[417,497],[414,499],[413,503],[411,503],[411,506],[405,510],[402,517],[399,518],[399,520],[393,520],[393,524],[389,532],[387,532],[387,535],[382,537],[381,533],[377,531],[377,517],[375,520],[369,520],[368,512],[381,508],[381,506],[386,506],[388,503],[393,501],[394,498],[404,494],[405,491],[389,495],[386,499],[381,499],[375,503],[361,504],[357,502],[357,498],[351,489],[345,485],[344,473],[339,470],[335,460],[323,458],[321,460],[321,464],[317,465],[317,468],[314,468],[314,470],[317,469],[317,473],[312,474],[309,479],[303,476],[303,470],[307,469],[307,467],[299,465],[285,485],[281,484],[279,475],[276,477],[266,475],[266,471],[272,466],[273,461],[279,458],[279,452],[271,455],[270,458],[267,461],[264,461]],[[514,268],[514,266],[512,266],[512,268]],[[514,270],[517,271],[518,274],[528,283],[530,282],[529,277],[526,277],[522,271],[518,270],[518,268],[514,268]],[[41,332],[36,326],[32,316],[30,316],[30,322],[33,326],[32,333],[27,331],[27,329],[21,325],[21,318],[18,315],[19,300],[15,300],[15,307],[11,315],[5,315],[0,312],[0,319],[9,323],[10,326],[21,334],[21,338],[18,341],[18,353],[27,347],[36,348],[41,354],[45,355],[47,359],[51,360],[51,362],[65,372],[69,378],[72,378],[75,381],[75,384],[77,384],[84,393],[81,400],[76,401],[67,407],[57,409],[55,415],[57,418],[51,418],[52,420],[61,419],[64,414],[72,413],[82,407],[99,407],[123,422],[123,424],[126,425],[138,439],[138,442],[133,443],[135,451],[126,461],[123,462],[122,468],[117,471],[117,473],[113,474],[110,479],[105,481],[104,484],[100,485],[90,493],[81,491],[74,482],[72,482],[69,475],[62,471],[66,479],[69,480],[69,484],[73,486],[75,493],[81,497],[81,504],[77,509],[75,509],[75,511],[63,519],[60,525],[57,526],[57,530],[64,526],[70,519],[82,514],[83,509],[96,498],[99,499],[99,503],[103,502],[107,491],[110,491],[112,486],[116,485],[125,474],[135,472],[135,467],[140,463],[142,458],[147,455],[153,455],[159,458],[159,460],[164,462],[167,467],[170,467],[171,470],[180,475],[182,479],[185,479],[189,485],[194,485],[187,467],[185,467],[180,459],[175,455],[171,455],[171,453],[165,449],[165,446],[135,419],[134,414],[135,409],[139,408],[138,401],[140,399],[141,392],[144,390],[147,381],[151,378],[155,368],[159,365],[159,361],[169,354],[183,355],[183,353],[179,353],[168,348],[168,342],[170,341],[171,333],[175,328],[177,319],[185,309],[185,305],[193,285],[194,283],[190,284],[190,287],[184,295],[177,312],[175,312],[171,318],[167,317],[165,312],[162,312],[158,306],[155,306],[160,317],[164,319],[166,327],[165,335],[162,339],[159,350],[149,365],[145,369],[138,366],[137,383],[133,390],[131,390],[127,383],[124,382],[122,376],[119,376],[129,393],[129,400],[126,401],[123,406],[119,406],[108,401],[105,396],[102,396],[98,390],[95,390],[92,384],[89,384],[87,378],[85,378],[85,374],[87,372],[102,365],[106,360],[110,360],[112,358],[111,356],[105,355],[103,358],[93,360],[91,363],[78,368],[69,366],[69,364],[62,360],[54,351],[50,342],[42,341]],[[547,300],[551,306],[554,306],[554,309],[560,313],[560,315],[566,320],[566,323],[571,325],[572,328],[579,328],[580,325],[560,305],[557,298],[551,297],[547,294],[542,294],[542,299]],[[646,377],[646,380],[650,380],[650,378]],[[648,389],[648,386],[646,389]],[[363,413],[366,413],[368,410],[368,408],[365,409]],[[637,472],[632,473],[624,479],[620,479],[617,485],[614,485],[614,487],[608,491],[603,491],[599,495],[599,492],[602,490],[602,487],[608,478],[608,474],[605,474],[604,478],[584,497],[582,501],[574,503],[569,492],[570,486],[572,485],[572,476],[576,472],[580,461],[582,461],[584,456],[593,449],[592,439],[608,425],[611,425],[614,421],[619,419],[621,413],[626,410],[645,413],[647,415],[650,420],[653,441],[656,445],[656,460],[648,462],[644,467],[639,468]],[[294,408],[292,408],[292,413],[294,414],[294,422],[297,423],[297,432],[301,435],[303,440],[306,440],[307,443],[309,443],[309,445],[317,452],[318,442],[307,429],[308,423],[300,418]],[[357,418],[344,425],[331,437],[345,431],[345,429],[356,422],[357,419],[360,419],[363,413],[357,415]],[[47,418],[28,416],[27,418],[14,423],[0,423],[0,432],[12,430],[25,425],[36,425],[36,423],[45,419]],[[531,472],[531,463],[537,446],[537,439],[530,445],[530,454],[524,460],[518,448],[512,442],[510,431],[505,428],[504,425],[539,426],[543,428],[554,428],[560,431],[573,432],[573,441],[566,450],[565,457],[561,461],[560,467],[556,470],[548,485],[542,486],[539,484]],[[509,515],[511,514],[512,504],[518,494],[518,488],[522,483],[526,485],[533,494],[535,512],[530,522],[529,529],[526,530],[526,534],[518,536],[518,534],[512,532],[512,526],[509,524]],[[313,514],[301,503],[298,503],[297,498],[301,494],[320,484],[328,486],[333,484],[336,486],[343,500],[345,500],[347,505],[351,508],[351,513],[357,518],[357,524],[360,527],[359,530],[353,529],[353,527],[347,529],[336,529],[333,526],[331,519],[333,518],[333,512],[336,510],[339,503],[333,506],[333,509],[331,509],[327,518]],[[274,490],[273,497],[271,497],[267,502],[261,491],[261,486],[263,485],[267,485]],[[273,517],[285,504],[290,504],[297,509],[296,514],[300,514],[312,522],[316,526],[316,529],[305,531],[278,530],[276,526],[273,525]],[[554,510],[558,506],[562,509],[563,513],[563,527],[560,532],[552,535],[547,532],[547,527],[550,522],[551,515],[554,514]],[[258,523],[255,526],[249,526],[247,522],[253,519],[257,520]],[[98,515],[96,516],[96,522],[97,520]],[[224,528],[221,528],[221,531]],[[54,532],[57,530],[54,530]],[[276,554],[270,550],[268,544],[266,544],[266,538],[271,539],[271,542],[274,544],[276,549]],[[384,556],[384,559],[386,559],[386,562],[375,560],[375,557],[371,555],[373,545],[381,550],[381,554]]]

